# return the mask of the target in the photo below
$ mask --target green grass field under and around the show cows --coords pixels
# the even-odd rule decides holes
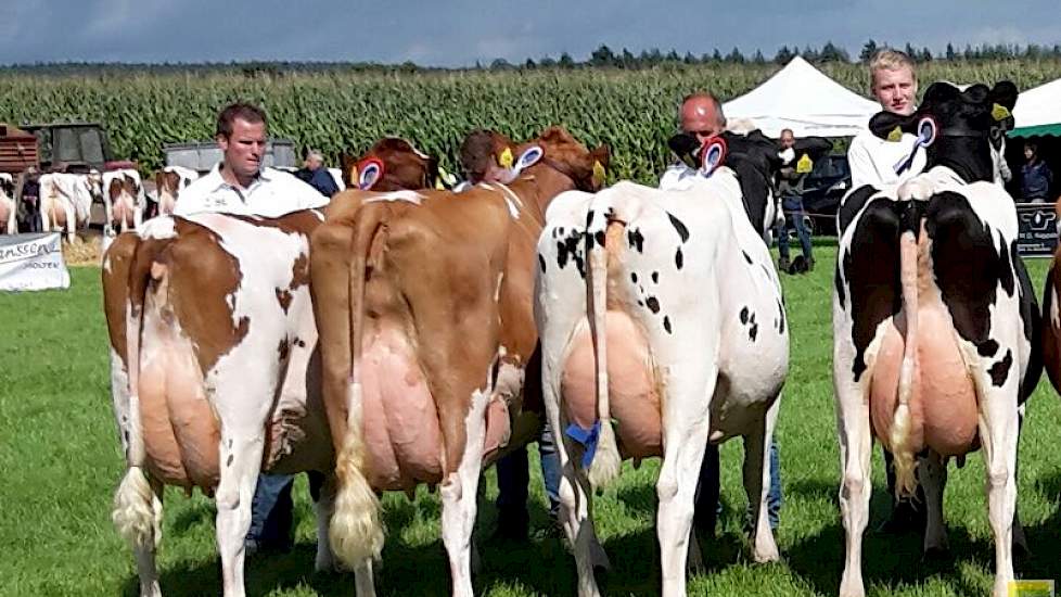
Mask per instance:
[[[835,250],[817,247],[818,270],[784,279],[792,330],[791,376],[778,429],[784,508],[778,533],[782,562],[750,562],[740,532],[745,498],[740,485],[741,447],[723,448],[726,512],[714,544],[705,544],[708,570],[691,580],[690,595],[835,595],[843,566],[843,528],[836,505],[840,478],[831,388],[831,262]],[[1043,288],[1046,262],[1030,262]],[[0,594],[10,596],[133,595],[131,551],[110,522],[111,497],[123,471],[111,415],[106,334],[99,269],[73,268],[66,292],[0,294]],[[1019,504],[1032,556],[1019,562],[1025,579],[1061,580],[1061,401],[1048,381],[1032,397],[1021,445]],[[536,456],[532,455],[537,473]],[[613,570],[610,595],[656,595],[659,548],[653,528],[659,462],[634,471],[598,498],[597,520]],[[476,537],[483,572],[477,594],[572,595],[574,560],[548,523],[540,477],[532,481],[529,544],[490,538],[496,484],[487,473],[488,500]],[[986,595],[994,570],[982,458],[951,467],[946,515],[951,554],[922,562],[913,535],[883,536],[872,529],[886,511],[880,450],[874,448],[874,490],[865,544],[870,595]],[[381,595],[447,595],[449,572],[439,538],[437,495],[414,503],[401,494],[385,500],[388,539],[378,588]],[[312,572],[315,522],[305,481],[296,485],[296,547],[250,559],[250,595],[353,595],[353,576]],[[209,500],[167,490],[162,588],[170,596],[217,595],[220,564]]]

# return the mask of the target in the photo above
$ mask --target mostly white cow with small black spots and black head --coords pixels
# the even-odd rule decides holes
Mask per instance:
[[[661,189],[624,181],[597,194],[562,193],[538,241],[544,398],[563,437],[561,520],[584,597],[599,594],[590,485],[616,477],[623,458],[663,456],[663,595],[686,594],[693,497],[708,442],[744,439],[753,556],[779,557],[766,518],[767,446],[789,336],[763,242],[774,224],[777,147],[758,131],[672,147],[698,150],[708,164],[702,174],[711,176],[678,177]]]

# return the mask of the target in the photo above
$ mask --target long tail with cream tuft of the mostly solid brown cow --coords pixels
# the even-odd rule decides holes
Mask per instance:
[[[379,559],[383,550],[380,499],[366,475],[367,458],[362,418],[361,335],[365,329],[365,270],[372,240],[383,225],[382,205],[361,207],[350,243],[350,379],[346,394],[346,436],[337,455],[338,493],[329,528],[332,551],[347,567]]]

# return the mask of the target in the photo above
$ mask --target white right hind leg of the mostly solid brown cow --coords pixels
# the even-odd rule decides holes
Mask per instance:
[[[486,441],[486,406],[494,390],[487,383],[485,390],[475,390],[471,408],[464,419],[466,441],[464,455],[457,471],[438,490],[442,496],[443,543],[449,554],[449,571],[453,581],[455,596],[472,597],[472,529],[475,525],[475,496],[483,467],[483,444]]]

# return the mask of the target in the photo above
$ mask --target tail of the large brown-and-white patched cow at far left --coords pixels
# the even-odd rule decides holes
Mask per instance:
[[[123,430],[128,433],[126,465],[128,470],[114,493],[111,520],[118,534],[136,549],[151,549],[162,539],[161,525],[155,520],[154,495],[146,474],[146,450],[140,412],[140,338],[143,309],[151,278],[163,278],[165,269],[155,266],[155,256],[168,244],[146,241],[137,246],[129,268],[129,294],[126,300],[126,363],[129,367],[129,420]]]

